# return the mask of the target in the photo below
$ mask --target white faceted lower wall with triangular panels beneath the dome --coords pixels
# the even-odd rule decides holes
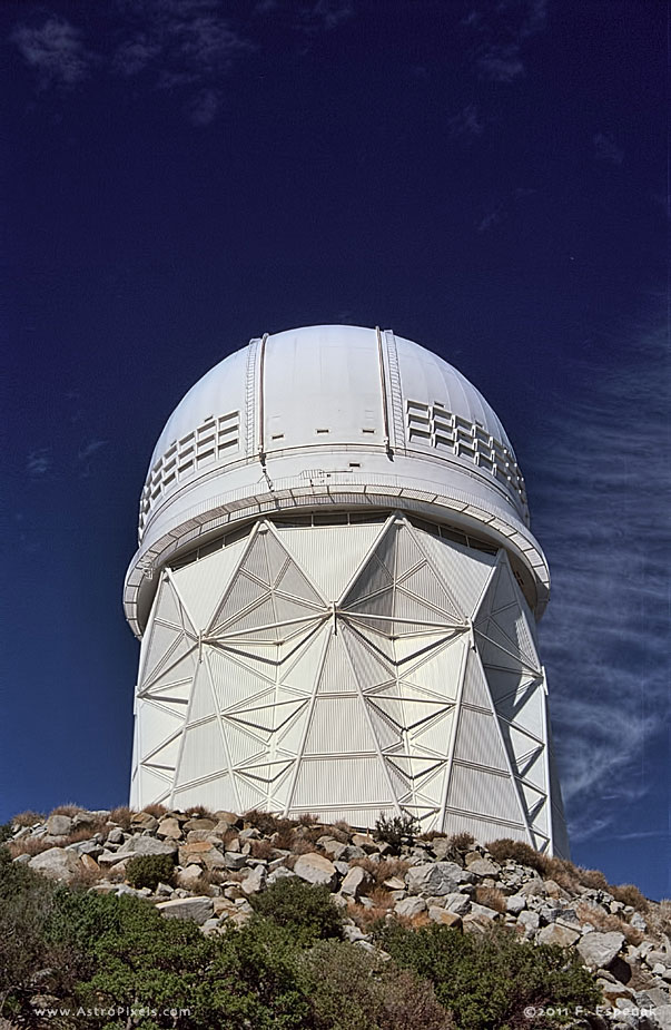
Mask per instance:
[[[566,854],[531,612],[503,550],[385,523],[289,528],[164,573],[131,804],[512,836]],[[552,802],[552,803],[551,803]]]

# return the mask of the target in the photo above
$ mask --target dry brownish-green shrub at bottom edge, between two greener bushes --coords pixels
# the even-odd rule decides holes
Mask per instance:
[[[356,944],[319,941],[303,957],[316,1030],[452,1030],[432,985]]]

